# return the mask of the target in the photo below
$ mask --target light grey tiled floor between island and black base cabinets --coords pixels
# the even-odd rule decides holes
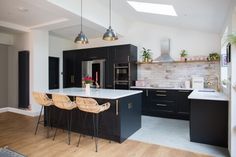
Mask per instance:
[[[129,139],[217,157],[227,157],[222,147],[190,142],[189,121],[142,116],[142,128]]]

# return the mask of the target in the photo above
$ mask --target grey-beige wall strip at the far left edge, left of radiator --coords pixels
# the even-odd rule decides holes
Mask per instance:
[[[8,46],[0,44],[0,108],[8,106]]]

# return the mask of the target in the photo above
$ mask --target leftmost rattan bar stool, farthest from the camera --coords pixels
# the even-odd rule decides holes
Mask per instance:
[[[42,116],[42,111],[44,109],[44,107],[48,107],[47,111],[47,137],[49,137],[49,125],[51,124],[50,122],[50,106],[53,105],[53,101],[52,99],[49,99],[48,96],[45,93],[41,93],[41,92],[33,92],[32,93],[33,98],[35,99],[36,103],[38,103],[39,105],[41,105],[41,111],[39,114],[39,118],[36,124],[36,128],[35,128],[35,132],[34,134],[37,134],[38,131],[38,126],[39,124],[44,124],[44,120],[41,121],[41,116]],[[45,114],[44,114],[45,115]],[[45,118],[45,117],[44,117]]]

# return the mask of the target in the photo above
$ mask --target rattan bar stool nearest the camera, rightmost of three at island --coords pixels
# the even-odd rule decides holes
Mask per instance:
[[[95,148],[97,152],[98,151],[98,118],[99,118],[98,116],[99,116],[99,113],[102,113],[110,108],[110,103],[107,102],[102,105],[99,105],[95,99],[76,97],[76,104],[79,110],[86,113],[91,113],[93,115],[93,136],[95,138]],[[80,134],[77,147],[80,144],[81,136],[82,135]]]

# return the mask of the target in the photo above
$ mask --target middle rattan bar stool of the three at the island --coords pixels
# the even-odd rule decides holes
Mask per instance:
[[[57,130],[59,127],[59,123],[62,120],[63,111],[67,112],[67,133],[68,133],[68,145],[70,145],[70,134],[71,134],[71,122],[72,122],[72,110],[77,107],[76,103],[71,101],[70,98],[66,95],[53,94],[52,100],[54,105],[60,109],[59,118],[57,120],[57,127],[53,136],[53,140],[55,140]]]

